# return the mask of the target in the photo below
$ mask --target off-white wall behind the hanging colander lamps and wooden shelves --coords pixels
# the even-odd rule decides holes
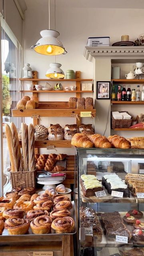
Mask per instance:
[[[72,1],[72,0],[69,0]],[[60,0],[58,0],[60,3]],[[45,78],[46,70],[54,56],[40,55],[30,48],[40,38],[40,31],[48,28],[48,1],[26,0],[26,20],[24,28],[24,62],[31,64],[32,70],[38,71],[39,78]],[[54,8],[51,8],[50,28],[54,29]],[[82,78],[94,78],[93,64],[84,56],[84,46],[90,36],[110,36],[111,44],[121,40],[121,35],[128,34],[134,41],[143,32],[144,24],[143,9],[105,9],[105,8],[56,8],[56,30],[60,32],[60,40],[68,51],[66,55],[56,56],[56,62],[62,64],[62,69],[82,71]],[[128,68],[127,68],[128,69]],[[126,70],[127,71],[127,70]],[[105,70],[103,70],[103,73]],[[103,80],[103,77],[101,77]],[[66,83],[65,83],[66,85]],[[94,85],[95,86],[95,85]],[[58,94],[59,96],[59,94]],[[65,101],[71,95],[60,94],[59,98],[51,94],[40,95],[40,100]],[[87,95],[84,94],[86,97]],[[88,95],[91,96],[91,95]],[[140,109],[141,110],[141,109]],[[138,110],[138,113],[141,112]],[[98,114],[98,113],[97,113]],[[42,124],[50,123],[72,124],[75,119],[68,118],[42,118]],[[90,119],[83,120],[92,123]],[[102,126],[106,124],[103,120]],[[64,125],[63,125],[64,126]],[[70,149],[69,152],[72,152]]]

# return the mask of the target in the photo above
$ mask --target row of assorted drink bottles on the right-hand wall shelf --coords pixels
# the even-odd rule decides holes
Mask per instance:
[[[116,97],[117,96],[117,97]],[[137,90],[130,89],[130,85],[128,85],[128,89],[126,91],[125,85],[123,86],[121,90],[121,86],[118,86],[118,91],[116,95],[116,89],[115,86],[112,86],[112,94],[111,94],[111,100],[123,100],[123,101],[144,101],[144,84],[142,87],[142,92],[140,93],[140,86],[137,85]]]

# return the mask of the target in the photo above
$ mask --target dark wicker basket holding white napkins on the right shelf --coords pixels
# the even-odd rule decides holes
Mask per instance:
[[[122,113],[122,112],[128,113],[127,111],[121,111],[120,113]],[[130,120],[127,120],[127,119],[114,119],[112,116],[111,121],[112,121],[111,124],[112,124],[113,130],[115,128],[130,128],[131,123],[132,123],[132,117]]]

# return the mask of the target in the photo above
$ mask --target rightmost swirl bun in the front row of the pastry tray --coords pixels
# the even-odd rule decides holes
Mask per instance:
[[[74,226],[74,219],[71,217],[56,218],[51,225],[57,234],[71,233],[74,230]]]

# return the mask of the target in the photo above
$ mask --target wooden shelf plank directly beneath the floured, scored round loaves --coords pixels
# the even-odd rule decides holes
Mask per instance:
[[[20,147],[22,142],[20,141]],[[47,146],[54,146],[56,148],[71,148],[70,140],[35,140],[35,148],[46,148]]]

